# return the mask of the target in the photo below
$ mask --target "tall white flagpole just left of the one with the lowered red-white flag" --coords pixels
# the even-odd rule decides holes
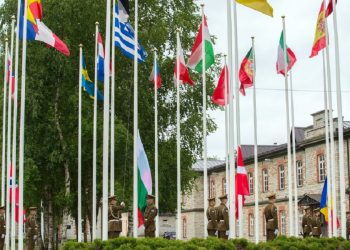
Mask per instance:
[[[235,1],[234,1],[235,3]],[[234,114],[233,114],[233,90],[234,90],[234,81],[233,81],[233,67],[232,67],[232,59],[233,59],[233,49],[232,49],[232,1],[227,0],[227,34],[228,34],[228,68],[229,68],[229,76],[230,76],[230,92],[229,92],[229,209],[230,209],[230,217],[229,217],[229,238],[233,239],[236,237],[236,227],[235,227],[235,154],[234,154]]]

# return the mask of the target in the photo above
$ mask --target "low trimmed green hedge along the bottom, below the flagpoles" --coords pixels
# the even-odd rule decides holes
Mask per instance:
[[[245,239],[220,240],[217,238],[192,239],[189,241],[154,239],[118,238],[108,241],[95,240],[89,243],[77,243],[68,241],[62,246],[63,250],[345,250],[350,249],[350,241],[343,238],[287,238],[278,237],[272,242],[254,244]]]

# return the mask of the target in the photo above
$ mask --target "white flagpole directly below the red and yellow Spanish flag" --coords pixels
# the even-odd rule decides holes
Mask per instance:
[[[330,169],[330,147],[329,147],[329,116],[328,116],[328,100],[327,100],[327,73],[326,73],[326,56],[324,50],[322,51],[322,62],[323,62],[323,89],[324,89],[324,116],[325,116],[325,140],[326,140],[326,168],[327,171],[327,209],[328,214],[331,214],[331,169]],[[328,216],[328,237],[332,237],[332,216]]]

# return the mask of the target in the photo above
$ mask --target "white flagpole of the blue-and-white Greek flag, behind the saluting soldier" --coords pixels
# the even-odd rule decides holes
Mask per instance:
[[[113,0],[113,12],[112,12],[112,35],[111,35],[111,50],[112,50],[112,77],[111,77],[111,166],[110,166],[110,195],[114,195],[114,120],[115,120],[115,46],[114,46],[114,20],[115,20],[115,0]],[[109,77],[109,74],[108,74]]]

